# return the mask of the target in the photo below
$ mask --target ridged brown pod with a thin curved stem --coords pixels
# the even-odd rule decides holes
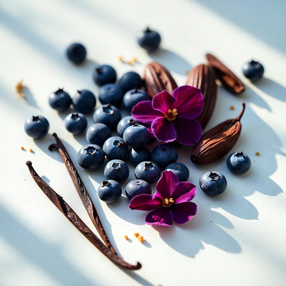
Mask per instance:
[[[242,106],[237,118],[226,120],[202,135],[192,150],[191,161],[194,164],[205,165],[215,162],[233,148],[241,132],[240,120],[245,110],[244,102]]]

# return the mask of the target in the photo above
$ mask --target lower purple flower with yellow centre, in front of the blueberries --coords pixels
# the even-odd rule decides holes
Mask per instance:
[[[196,194],[196,186],[190,182],[179,182],[172,171],[164,171],[156,185],[156,193],[135,196],[130,201],[132,210],[152,210],[146,216],[147,225],[170,227],[173,220],[186,223],[195,214],[197,206],[190,202]]]

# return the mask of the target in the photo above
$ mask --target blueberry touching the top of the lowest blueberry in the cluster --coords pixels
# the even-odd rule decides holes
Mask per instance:
[[[129,176],[129,168],[122,160],[111,160],[104,166],[104,176],[107,180],[114,180],[119,184],[125,182]]]

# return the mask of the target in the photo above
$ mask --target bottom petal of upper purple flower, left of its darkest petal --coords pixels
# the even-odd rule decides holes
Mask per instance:
[[[153,120],[151,130],[159,141],[172,142],[177,137],[172,121],[166,117],[157,117]]]

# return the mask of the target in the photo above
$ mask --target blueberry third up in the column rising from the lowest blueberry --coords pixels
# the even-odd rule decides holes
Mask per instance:
[[[113,136],[108,138],[103,144],[103,151],[110,160],[123,160],[128,154],[128,146],[121,137]]]

